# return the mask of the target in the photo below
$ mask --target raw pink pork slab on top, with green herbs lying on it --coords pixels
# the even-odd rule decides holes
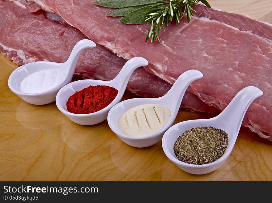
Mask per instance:
[[[150,73],[169,83],[184,71],[200,70],[204,77],[188,91],[206,104],[223,110],[242,88],[253,85],[264,91],[249,107],[243,122],[261,137],[272,140],[272,27],[243,15],[197,6],[198,16],[170,24],[160,33],[162,45],[144,42],[149,25],[123,25],[112,11],[90,0],[32,0],[62,16],[87,37],[130,59],[145,57]],[[174,37],[173,37],[174,36]],[[177,40],[178,39],[178,40]]]

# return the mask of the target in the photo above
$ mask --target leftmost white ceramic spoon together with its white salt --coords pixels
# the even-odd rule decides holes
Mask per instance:
[[[11,73],[8,86],[30,104],[49,104],[55,101],[57,92],[71,82],[80,54],[94,47],[93,41],[80,40],[64,63],[37,61],[20,66]]]

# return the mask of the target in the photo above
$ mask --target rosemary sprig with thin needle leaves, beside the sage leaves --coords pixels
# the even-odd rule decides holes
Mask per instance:
[[[206,0],[168,0],[168,1],[157,1],[155,5],[150,7],[151,11],[148,11],[143,15],[145,22],[151,23],[149,31],[147,33],[146,41],[151,38],[151,44],[153,41],[159,40],[160,30],[164,30],[164,25],[167,27],[170,22],[174,19],[175,23],[180,23],[183,16],[187,15],[187,21],[193,16],[193,10],[191,5],[197,5],[201,1],[207,7],[210,8],[210,4]]]

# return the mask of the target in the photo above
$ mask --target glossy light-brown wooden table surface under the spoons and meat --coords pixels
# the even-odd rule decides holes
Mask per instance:
[[[225,11],[272,23],[271,0],[209,0]],[[216,171],[192,175],[176,167],[161,142],[138,149],[126,145],[107,121],[81,126],[66,118],[55,103],[28,104],[7,86],[17,66],[0,54],[1,181],[271,181],[272,142],[241,128],[232,154]],[[125,93],[124,99],[134,95]],[[175,123],[209,118],[181,109]]]

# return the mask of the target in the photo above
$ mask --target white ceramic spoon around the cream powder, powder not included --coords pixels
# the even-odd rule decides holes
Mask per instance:
[[[182,98],[190,83],[203,77],[203,74],[198,70],[188,70],[177,78],[174,85],[162,97],[159,98],[135,98],[128,99],[116,104],[108,113],[108,125],[114,133],[126,144],[134,147],[147,147],[159,142],[164,132],[173,124],[177,112],[180,108]],[[142,104],[160,104],[168,107],[171,111],[171,116],[168,122],[158,132],[144,137],[131,137],[125,135],[119,129],[120,117],[129,109]]]

